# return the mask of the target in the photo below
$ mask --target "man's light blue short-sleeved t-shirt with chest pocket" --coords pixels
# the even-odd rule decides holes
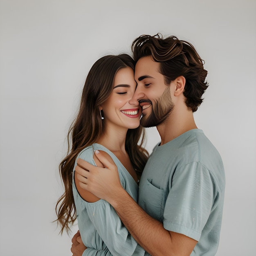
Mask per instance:
[[[156,146],[139,184],[139,205],[164,228],[198,241],[191,256],[216,254],[225,190],[222,159],[202,130]]]

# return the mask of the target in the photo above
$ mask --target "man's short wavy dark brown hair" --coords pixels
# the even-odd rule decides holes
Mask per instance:
[[[166,85],[170,85],[178,76],[184,76],[186,106],[193,112],[198,109],[203,101],[202,94],[208,88],[205,81],[207,70],[191,43],[176,36],[163,38],[161,34],[142,35],[132,42],[132,54],[136,62],[145,56],[152,56],[154,61],[159,62],[159,72],[164,75]]]

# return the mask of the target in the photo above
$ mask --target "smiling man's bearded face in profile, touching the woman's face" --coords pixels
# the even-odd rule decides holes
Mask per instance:
[[[170,86],[164,83],[159,73],[159,63],[150,56],[140,58],[135,66],[137,88],[133,100],[142,107],[140,123],[144,127],[162,124],[173,110]]]

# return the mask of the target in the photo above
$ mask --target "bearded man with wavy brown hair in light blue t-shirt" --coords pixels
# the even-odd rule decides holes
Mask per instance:
[[[157,126],[161,143],[150,155],[139,184],[138,204],[122,188],[117,167],[79,161],[84,189],[107,200],[151,255],[215,255],[225,174],[216,148],[199,130],[193,112],[202,103],[207,71],[195,48],[170,36],[140,36],[132,44],[141,124]],[[89,171],[89,172],[88,172]],[[77,244],[73,238],[73,249]]]

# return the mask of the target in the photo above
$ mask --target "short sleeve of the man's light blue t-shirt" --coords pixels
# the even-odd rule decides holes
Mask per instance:
[[[178,168],[169,182],[164,228],[199,240],[213,206],[211,172],[200,162]]]

